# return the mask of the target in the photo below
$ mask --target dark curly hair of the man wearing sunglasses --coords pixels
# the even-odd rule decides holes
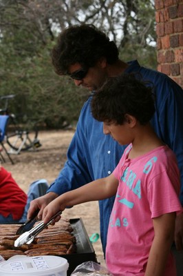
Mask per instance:
[[[118,55],[116,44],[109,41],[104,32],[94,25],[82,24],[61,32],[52,50],[52,63],[58,75],[65,75],[72,64],[92,67],[101,57],[113,64],[118,60]]]

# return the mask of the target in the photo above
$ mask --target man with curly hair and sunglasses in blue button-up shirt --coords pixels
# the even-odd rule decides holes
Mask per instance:
[[[114,41],[92,25],[65,28],[52,50],[52,63],[58,75],[68,75],[76,86],[95,91],[108,77],[125,72],[134,73],[144,81],[151,81],[155,94],[155,114],[151,124],[157,135],[177,157],[181,172],[180,199],[183,204],[183,91],[168,76],[140,66],[138,61],[124,62],[118,57]],[[92,96],[91,96],[92,97]],[[47,195],[32,201],[28,217],[34,210],[43,209],[53,199],[94,179],[113,172],[126,146],[120,146],[109,135],[103,134],[103,124],[92,117],[89,101],[85,102],[78,119],[76,132],[67,152],[67,161],[50,186]],[[105,252],[109,216],[114,197],[99,201],[100,238]],[[182,249],[183,215],[177,217],[175,242]]]

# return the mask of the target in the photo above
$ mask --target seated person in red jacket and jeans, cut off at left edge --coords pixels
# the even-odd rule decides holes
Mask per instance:
[[[39,179],[30,184],[26,195],[12,174],[0,166],[0,224],[26,221],[30,201],[45,194],[47,188],[47,181]]]

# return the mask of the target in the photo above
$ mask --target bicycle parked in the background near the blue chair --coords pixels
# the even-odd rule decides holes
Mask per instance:
[[[6,142],[10,146],[8,153],[19,154],[21,150],[37,150],[41,146],[36,124],[33,121],[27,120],[26,124],[19,123],[16,115],[8,110],[8,103],[15,95],[5,95],[0,97],[0,101],[5,101],[4,108],[0,109],[1,115],[8,115],[8,124],[6,127]],[[21,117],[22,119],[22,117]]]

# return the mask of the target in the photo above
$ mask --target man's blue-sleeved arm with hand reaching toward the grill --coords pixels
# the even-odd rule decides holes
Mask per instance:
[[[90,112],[87,109],[88,103],[85,103],[80,113],[76,132],[69,145],[67,161],[63,169],[50,188],[48,188],[47,194],[31,202],[28,210],[28,219],[32,218],[32,215],[37,209],[40,209],[39,219],[41,219],[45,206],[58,197],[58,195],[62,195],[69,190],[74,190],[93,180],[93,175],[91,176],[92,161],[85,135],[85,125],[90,116]]]

